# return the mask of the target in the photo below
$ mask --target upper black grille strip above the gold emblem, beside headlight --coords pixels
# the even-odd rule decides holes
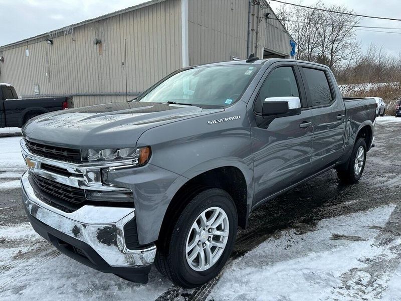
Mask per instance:
[[[80,149],[45,145],[29,140],[25,140],[25,143],[33,154],[43,156],[45,158],[71,162],[81,161]]]

